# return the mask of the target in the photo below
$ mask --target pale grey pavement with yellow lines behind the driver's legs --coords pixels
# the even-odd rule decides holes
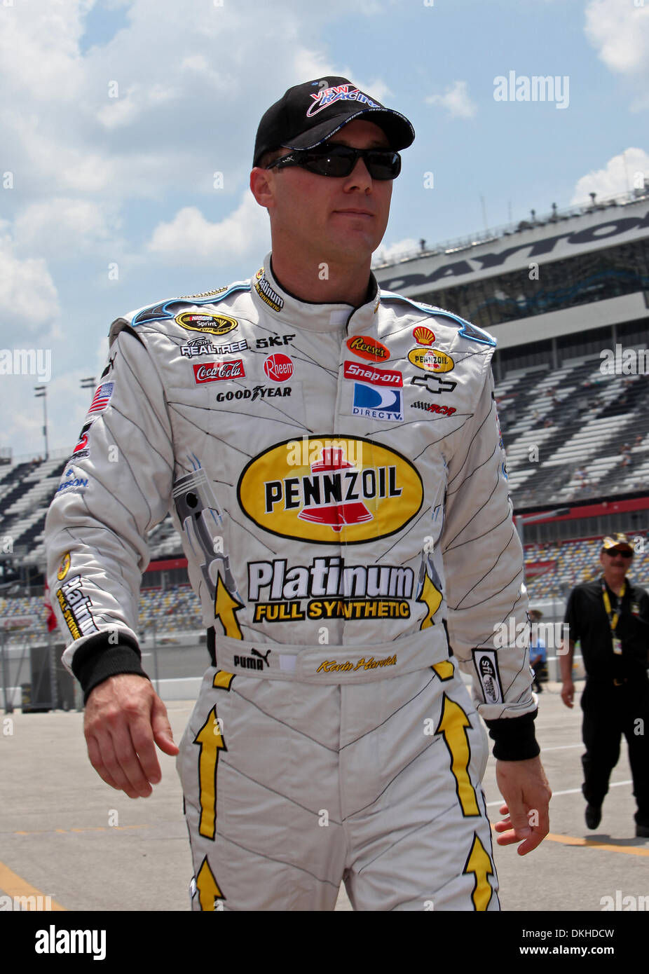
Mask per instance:
[[[192,705],[168,704],[176,741]],[[599,912],[610,903],[633,909],[633,901],[649,909],[649,840],[634,838],[626,742],[601,824],[590,832],[580,789],[581,710],[563,706],[557,684],[540,696],[537,734],[554,792],[551,834],[524,857],[494,842],[502,909]],[[160,754],[160,761],[154,794],[132,801],[91,767],[82,713],[0,710],[0,906],[11,908],[6,897],[33,896],[43,909],[187,911],[192,867],[182,796],[173,759]],[[484,791],[493,823],[501,800],[492,758]],[[336,909],[351,909],[344,889]]]

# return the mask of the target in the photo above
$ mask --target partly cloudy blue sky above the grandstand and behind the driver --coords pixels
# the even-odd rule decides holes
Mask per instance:
[[[496,226],[649,177],[649,0],[5,3],[0,351],[49,351],[51,449],[113,318],[260,266],[254,131],[290,85],[343,75],[412,121],[384,255],[481,230],[480,197]],[[510,71],[560,78],[566,106],[495,100]],[[15,455],[43,452],[38,384],[0,374]]]

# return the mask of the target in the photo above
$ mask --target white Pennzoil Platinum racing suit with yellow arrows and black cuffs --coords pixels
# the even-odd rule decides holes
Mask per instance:
[[[345,880],[356,909],[497,910],[478,713],[497,756],[538,746],[498,638],[527,601],[495,342],[373,278],[352,309],[265,268],[113,322],[47,521],[64,662],[86,697],[142,672],[171,509],[212,661],[177,759],[192,908],[332,909]]]

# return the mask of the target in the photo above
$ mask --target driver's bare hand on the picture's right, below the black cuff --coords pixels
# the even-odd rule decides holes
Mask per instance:
[[[548,784],[541,759],[528,761],[497,761],[496,781],[505,805],[494,829],[501,832],[499,845],[518,845],[518,855],[526,855],[543,842],[550,831],[548,805],[553,793]]]

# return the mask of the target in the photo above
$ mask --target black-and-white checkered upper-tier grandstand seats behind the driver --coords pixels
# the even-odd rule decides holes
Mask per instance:
[[[509,370],[496,385],[516,510],[646,490],[649,480],[649,376],[604,375],[601,358],[576,356]],[[622,448],[625,447],[624,452]],[[3,468],[0,537],[27,548],[42,568],[47,506],[65,459]],[[149,536],[152,559],[181,555],[171,516]]]

